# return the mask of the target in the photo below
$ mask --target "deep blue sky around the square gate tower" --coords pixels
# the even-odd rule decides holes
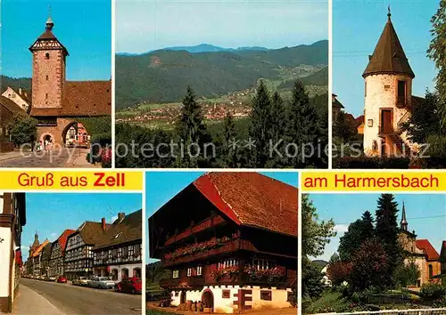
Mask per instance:
[[[0,0],[3,74],[31,77],[28,48],[45,31],[48,5],[54,35],[68,49],[67,79],[110,80],[110,0]]]

